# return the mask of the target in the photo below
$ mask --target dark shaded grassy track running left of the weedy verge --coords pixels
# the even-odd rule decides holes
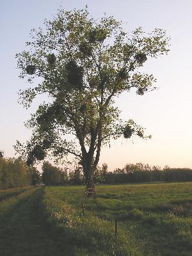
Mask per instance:
[[[24,196],[26,194],[26,196]],[[60,256],[65,252],[56,234],[45,227],[41,200],[43,188],[17,196],[17,203],[0,213],[0,255],[2,256]]]

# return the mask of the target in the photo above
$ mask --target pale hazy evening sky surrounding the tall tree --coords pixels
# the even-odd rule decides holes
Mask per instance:
[[[16,140],[30,137],[24,121],[37,104],[26,110],[17,103],[17,92],[28,84],[18,77],[15,54],[25,49],[31,29],[52,19],[60,6],[72,10],[86,4],[94,18],[104,12],[113,15],[125,22],[127,31],[163,28],[171,37],[168,56],[148,61],[143,68],[157,78],[159,90],[143,96],[124,93],[116,101],[122,118],[133,118],[152,139],[111,141],[110,148],[102,149],[100,163],[108,163],[109,170],[138,162],[192,168],[191,0],[0,0],[0,149],[6,157],[14,156]]]

